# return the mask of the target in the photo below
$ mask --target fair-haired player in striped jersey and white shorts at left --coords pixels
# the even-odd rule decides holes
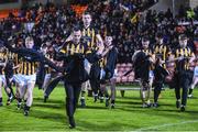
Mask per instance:
[[[25,47],[33,48],[34,40],[33,37],[25,38]],[[24,98],[26,94],[26,102],[24,106],[24,116],[29,116],[30,108],[33,102],[33,88],[36,81],[36,70],[37,70],[37,63],[33,61],[32,56],[19,56],[20,57],[20,68],[19,75],[20,80],[23,84],[23,87],[20,88],[20,99]],[[21,101],[21,100],[20,100]]]

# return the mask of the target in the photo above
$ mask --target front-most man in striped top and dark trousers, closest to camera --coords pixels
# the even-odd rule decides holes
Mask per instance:
[[[89,76],[85,69],[84,59],[95,63],[101,58],[102,51],[90,53],[88,46],[84,44],[81,38],[81,31],[78,28],[74,29],[73,40],[67,42],[59,51],[59,59],[64,61],[66,67],[66,76],[64,78],[66,91],[66,110],[69,119],[70,128],[75,128],[74,113],[77,107],[81,84],[85,82]]]

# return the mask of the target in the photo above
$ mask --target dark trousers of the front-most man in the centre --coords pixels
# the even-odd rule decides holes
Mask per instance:
[[[74,117],[74,113],[77,108],[80,90],[81,90],[81,84],[65,82],[66,112],[68,117]]]

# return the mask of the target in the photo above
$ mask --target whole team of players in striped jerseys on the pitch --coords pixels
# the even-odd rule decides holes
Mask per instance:
[[[99,32],[92,26],[91,15],[88,12],[84,13],[82,22],[84,25],[75,26],[70,36],[58,47],[45,43],[40,51],[35,51],[34,40],[31,36],[25,38],[25,47],[12,44],[12,40],[3,42],[0,47],[0,106],[2,106],[4,86],[9,97],[7,105],[16,97],[18,109],[21,109],[24,100],[24,116],[29,116],[37,77],[42,80],[40,87],[44,90],[44,101],[59,80],[64,81],[66,112],[72,129],[76,127],[74,113],[79,96],[81,107],[86,107],[87,89],[95,101],[105,96],[106,107],[111,100],[111,108],[114,108],[118,50],[113,45],[110,33],[107,32],[102,41]],[[165,78],[169,75],[167,64],[174,63],[172,86],[175,88],[176,107],[185,111],[187,92],[193,80],[193,69],[189,64],[196,59],[191,50],[187,47],[187,40],[185,34],[179,35],[178,48],[170,50],[164,44],[161,33],[156,34],[156,44],[152,48],[150,40],[142,37],[142,48],[132,56],[132,68],[135,72],[135,78],[140,80],[143,108],[158,107],[158,96]],[[15,84],[16,94],[13,94],[12,82]],[[106,88],[108,82],[111,87],[111,96]],[[154,103],[150,101],[152,86]],[[182,101],[180,88],[183,89]]]

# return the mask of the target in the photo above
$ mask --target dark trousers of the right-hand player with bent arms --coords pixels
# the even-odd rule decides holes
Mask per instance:
[[[187,95],[188,95],[188,88],[190,85],[191,75],[189,72],[182,72],[175,75],[177,85],[175,87],[175,96],[176,99],[179,100],[182,96],[182,105],[186,106],[187,103]],[[180,89],[183,89],[180,95]]]

